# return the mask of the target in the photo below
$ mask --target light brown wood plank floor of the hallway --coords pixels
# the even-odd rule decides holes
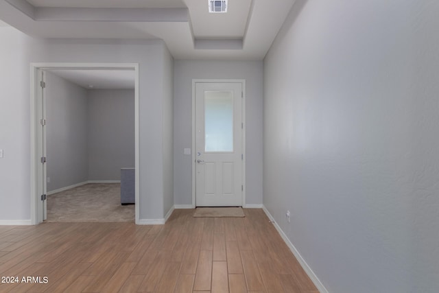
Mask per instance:
[[[0,277],[19,277],[0,292],[318,292],[265,213],[244,211],[193,218],[180,209],[156,226],[0,226]]]

